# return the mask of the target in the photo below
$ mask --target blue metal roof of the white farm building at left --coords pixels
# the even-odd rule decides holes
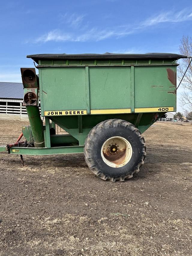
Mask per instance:
[[[0,98],[22,99],[23,94],[22,83],[0,82]]]

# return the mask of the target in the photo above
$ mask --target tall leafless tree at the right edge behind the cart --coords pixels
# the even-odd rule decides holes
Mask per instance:
[[[192,56],[192,37],[182,37],[181,44],[179,47],[180,53],[187,56]],[[181,80],[185,70],[189,65],[190,59],[182,59],[178,67],[178,77]],[[181,93],[180,101],[181,106],[185,110],[192,111],[192,65],[190,64],[187,73],[185,74],[182,81],[183,92]]]

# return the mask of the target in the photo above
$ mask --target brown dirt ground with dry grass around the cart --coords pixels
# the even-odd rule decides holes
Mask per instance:
[[[0,121],[0,144],[26,122]],[[145,133],[147,157],[105,182],[83,154],[0,155],[0,255],[192,255],[192,125]]]

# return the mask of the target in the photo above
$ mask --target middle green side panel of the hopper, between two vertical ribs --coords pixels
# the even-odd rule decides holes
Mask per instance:
[[[131,67],[89,67],[91,109],[131,108]]]

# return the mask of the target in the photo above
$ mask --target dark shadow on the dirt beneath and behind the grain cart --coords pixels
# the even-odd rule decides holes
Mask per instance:
[[[172,168],[173,164],[188,163],[192,165],[191,161],[192,150],[190,149],[178,149],[173,147],[171,149],[165,149],[163,147],[148,147],[147,156],[145,158],[145,164],[140,168],[140,172],[135,173],[132,179],[125,179],[125,182],[135,182],[139,179],[146,179],[146,177],[155,173],[161,172],[161,165],[167,165]],[[11,156],[11,164],[16,164],[22,167],[19,155]],[[42,161],[43,160],[43,161]],[[4,160],[6,161],[6,160]],[[10,160],[7,158],[7,162]],[[82,173],[90,173],[90,178],[95,177],[89,170],[83,153],[67,154],[67,155],[46,155],[46,156],[25,156],[25,165],[32,168],[40,169],[42,167],[47,168],[82,168]],[[169,166],[170,165],[170,166]],[[181,165],[182,166],[182,165]]]

